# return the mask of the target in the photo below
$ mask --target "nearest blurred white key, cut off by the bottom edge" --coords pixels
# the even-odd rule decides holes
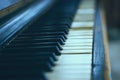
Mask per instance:
[[[57,72],[57,71],[56,71]],[[91,80],[90,73],[54,73],[54,74],[46,74],[49,80]]]

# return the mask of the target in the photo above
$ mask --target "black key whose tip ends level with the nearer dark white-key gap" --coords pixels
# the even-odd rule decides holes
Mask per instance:
[[[8,53],[13,53],[13,52],[52,52],[55,53],[56,55],[61,55],[61,52],[57,46],[43,46],[43,47],[22,47],[22,48],[4,48],[1,50],[1,52],[8,52]]]

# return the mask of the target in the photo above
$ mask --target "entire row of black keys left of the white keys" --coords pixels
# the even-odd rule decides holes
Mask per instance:
[[[51,71],[61,55],[78,4],[59,0],[7,44],[0,51],[0,79],[47,80],[43,72]]]

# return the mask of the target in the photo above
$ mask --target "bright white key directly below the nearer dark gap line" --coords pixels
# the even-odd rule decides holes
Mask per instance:
[[[61,55],[59,58],[59,64],[91,64],[92,54],[71,54]]]

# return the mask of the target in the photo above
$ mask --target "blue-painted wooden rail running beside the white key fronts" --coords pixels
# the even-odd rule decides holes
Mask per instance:
[[[100,9],[98,6],[95,16],[92,77],[92,80],[104,80],[104,43]]]

